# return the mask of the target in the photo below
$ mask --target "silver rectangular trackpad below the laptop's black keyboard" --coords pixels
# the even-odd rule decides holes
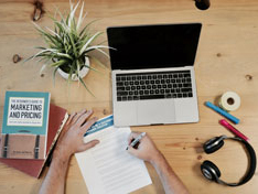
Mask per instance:
[[[138,125],[173,123],[175,110],[173,99],[138,101]]]

